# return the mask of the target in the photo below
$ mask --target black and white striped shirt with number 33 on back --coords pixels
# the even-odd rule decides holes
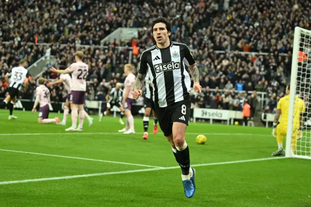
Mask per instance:
[[[14,67],[10,73],[10,85],[9,87],[21,89],[23,86],[25,78],[28,78],[30,75],[28,70],[23,67]]]

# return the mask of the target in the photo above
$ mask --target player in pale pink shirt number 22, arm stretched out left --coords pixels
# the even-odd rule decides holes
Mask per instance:
[[[76,63],[72,63],[69,68],[65,70],[51,69],[52,72],[58,74],[71,73],[72,76],[72,88],[70,92],[72,126],[65,129],[66,131],[83,131],[84,104],[86,101],[86,76],[88,74],[88,65],[82,62],[83,56],[83,52],[78,51],[74,55]],[[79,127],[77,127],[78,110]]]

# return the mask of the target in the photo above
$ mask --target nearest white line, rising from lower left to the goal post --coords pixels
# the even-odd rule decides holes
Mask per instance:
[[[282,158],[285,158],[285,157],[269,157],[269,158],[238,160],[238,161],[230,161],[230,162],[215,162],[215,163],[191,165],[191,167],[208,166],[208,165],[225,165],[225,164],[263,161],[263,160],[282,159]],[[40,182],[40,181],[49,181],[49,180],[67,180],[67,179],[81,178],[81,177],[95,177],[95,176],[102,176],[102,175],[109,175],[109,174],[139,173],[139,172],[160,171],[160,170],[169,170],[169,169],[178,169],[178,168],[180,168],[180,167],[179,166],[173,166],[173,167],[166,167],[166,168],[151,168],[151,169],[132,170],[132,171],[118,171],[118,172],[108,172],[108,173],[71,175],[71,176],[62,176],[62,177],[47,177],[47,178],[26,179],[26,180],[2,181],[2,182],[0,182],[0,185]]]

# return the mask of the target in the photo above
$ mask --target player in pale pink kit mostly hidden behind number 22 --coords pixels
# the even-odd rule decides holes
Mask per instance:
[[[60,67],[59,69],[65,69],[63,67]],[[61,84],[63,83],[65,90],[67,90],[68,92],[68,97],[66,99],[65,105],[64,105],[64,116],[63,116],[63,121],[62,121],[62,125],[66,125],[66,121],[67,121],[67,117],[69,114],[69,105],[70,105],[70,92],[71,92],[71,88],[72,88],[72,80],[69,74],[61,74],[59,76],[59,80],[54,81],[54,82],[50,82],[47,85],[48,86],[53,86],[55,84]],[[90,116],[88,116],[88,114],[86,113],[86,111],[84,110],[84,117],[87,119],[88,121],[88,126],[91,126],[93,124],[93,118],[91,118]]]

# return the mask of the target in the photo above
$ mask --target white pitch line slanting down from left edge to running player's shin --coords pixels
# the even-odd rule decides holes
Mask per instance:
[[[24,153],[24,154],[31,154],[31,155],[55,156],[55,157],[63,157],[63,158],[70,158],[70,159],[82,159],[82,160],[108,162],[108,163],[123,164],[123,165],[136,165],[136,166],[150,167],[150,168],[163,168],[163,167],[159,167],[159,166],[141,165],[141,164],[127,163],[127,162],[116,162],[116,161],[109,161],[109,160],[102,160],[102,159],[89,159],[89,158],[75,157],[75,156],[50,155],[50,154],[43,154],[43,153],[33,153],[33,152],[5,150],[5,149],[0,149],[0,151],[13,152],[13,153]]]

